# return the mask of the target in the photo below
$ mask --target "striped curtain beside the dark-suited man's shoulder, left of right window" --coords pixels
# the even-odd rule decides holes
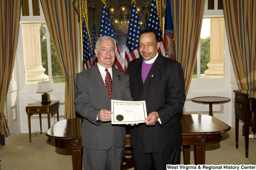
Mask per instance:
[[[171,0],[176,57],[185,77],[185,93],[192,79],[199,45],[205,0]]]

